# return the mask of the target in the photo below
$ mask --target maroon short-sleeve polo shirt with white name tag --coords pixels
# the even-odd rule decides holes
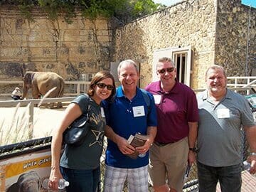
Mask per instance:
[[[161,82],[151,82],[145,90],[155,98],[157,134],[155,141],[177,142],[188,137],[188,122],[198,122],[196,95],[190,87],[176,81],[169,92],[163,92]]]

